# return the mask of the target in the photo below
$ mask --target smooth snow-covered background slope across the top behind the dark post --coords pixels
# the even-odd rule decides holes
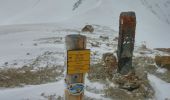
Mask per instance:
[[[82,26],[89,23],[110,26],[118,31],[120,13],[135,11],[137,43],[146,41],[150,47],[170,47],[169,0],[77,1],[0,0],[0,25],[60,23]]]

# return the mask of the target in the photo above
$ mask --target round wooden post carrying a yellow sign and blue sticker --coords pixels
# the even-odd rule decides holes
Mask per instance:
[[[67,72],[65,100],[83,100],[84,76],[90,67],[90,50],[86,49],[86,37],[67,35]]]

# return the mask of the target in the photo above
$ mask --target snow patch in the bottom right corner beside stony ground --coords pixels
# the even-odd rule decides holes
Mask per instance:
[[[156,76],[149,74],[148,79],[150,81],[151,86],[156,91],[155,98],[156,100],[169,100],[170,99],[170,83],[166,83],[165,81],[157,78]]]

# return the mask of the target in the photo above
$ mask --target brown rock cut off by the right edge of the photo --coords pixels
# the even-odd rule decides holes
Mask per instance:
[[[155,56],[155,62],[158,66],[170,70],[170,56]]]

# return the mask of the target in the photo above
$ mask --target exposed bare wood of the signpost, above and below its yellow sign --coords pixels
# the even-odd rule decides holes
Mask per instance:
[[[67,35],[66,36],[66,49],[67,50],[84,50],[86,49],[86,37],[83,35]],[[67,66],[68,67],[68,66]],[[68,74],[66,73],[66,84],[84,83],[84,74]],[[71,95],[65,89],[65,100],[83,100],[84,93],[80,95]]]

